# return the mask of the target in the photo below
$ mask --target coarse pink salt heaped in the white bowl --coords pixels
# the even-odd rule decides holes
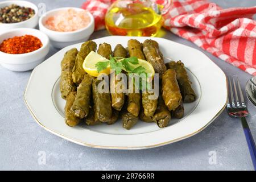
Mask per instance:
[[[80,30],[88,26],[90,16],[86,11],[76,11],[74,9],[61,10],[53,16],[49,16],[45,26],[53,31],[71,32]]]

